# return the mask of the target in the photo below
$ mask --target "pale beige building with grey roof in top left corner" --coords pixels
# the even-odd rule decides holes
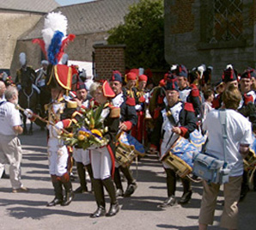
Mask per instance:
[[[58,7],[54,0],[0,1],[0,69],[9,70],[16,41],[31,30],[42,15]]]

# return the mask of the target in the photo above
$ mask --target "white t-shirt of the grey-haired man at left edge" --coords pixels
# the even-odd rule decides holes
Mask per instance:
[[[10,102],[4,102],[0,106],[0,134],[15,135],[14,126],[21,125],[19,110]]]

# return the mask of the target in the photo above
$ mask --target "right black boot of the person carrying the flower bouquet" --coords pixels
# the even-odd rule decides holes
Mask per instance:
[[[116,215],[119,212],[119,203],[117,201],[113,180],[111,178],[103,179],[102,183],[107,189],[108,195],[110,197],[110,209],[106,216]]]

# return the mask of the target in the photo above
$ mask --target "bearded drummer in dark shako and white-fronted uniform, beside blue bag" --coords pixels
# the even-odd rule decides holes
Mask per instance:
[[[162,109],[161,115],[156,120],[155,130],[152,133],[150,151],[154,152],[157,148],[163,155],[168,152],[172,144],[183,136],[189,137],[189,134],[196,129],[196,117],[191,103],[182,102],[179,98],[179,87],[176,78],[168,75],[165,86],[166,100],[168,106]],[[160,144],[161,143],[161,144]],[[161,204],[162,208],[173,206],[177,203],[175,197],[176,174],[166,163],[162,163],[167,173],[168,198]],[[179,203],[188,203],[192,197],[191,182],[189,179],[181,179],[183,185],[183,195]]]

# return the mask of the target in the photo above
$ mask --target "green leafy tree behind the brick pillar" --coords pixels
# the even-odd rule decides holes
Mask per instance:
[[[126,45],[125,62],[128,68],[167,69],[163,0],[140,0],[129,9],[125,23],[108,32],[108,44]]]

